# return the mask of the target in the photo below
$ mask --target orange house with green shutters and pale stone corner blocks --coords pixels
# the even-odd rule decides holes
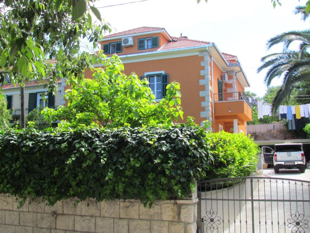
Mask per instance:
[[[168,83],[179,82],[182,122],[192,116],[197,124],[210,121],[213,132],[246,133],[252,111],[244,88],[250,85],[236,56],[221,53],[211,42],[170,36],[159,27],[110,34],[99,43],[107,56],[120,57],[126,75],[146,77],[157,99],[164,98]]]

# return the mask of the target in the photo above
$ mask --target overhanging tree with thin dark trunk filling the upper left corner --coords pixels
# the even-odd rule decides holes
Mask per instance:
[[[24,127],[24,84],[38,79],[55,93],[57,78],[83,78],[90,66],[89,54],[79,53],[80,38],[96,42],[110,30],[95,24],[90,12],[101,21],[99,11],[85,0],[2,0],[0,2],[1,81],[9,74],[21,85],[22,127]],[[51,64],[48,60],[55,59]]]

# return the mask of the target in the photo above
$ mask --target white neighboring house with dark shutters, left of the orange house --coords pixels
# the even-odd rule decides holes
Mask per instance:
[[[20,118],[20,85],[14,86],[7,80],[7,84],[2,86],[2,93],[7,99],[7,108],[11,110],[13,120]],[[44,88],[44,83],[39,81],[30,81],[25,84],[25,113],[31,112],[37,107],[50,107],[57,108],[60,105],[64,105],[64,87],[66,86],[65,79],[57,79],[58,90],[55,95],[48,92],[47,88]],[[47,100],[43,101],[42,93],[46,93]]]

